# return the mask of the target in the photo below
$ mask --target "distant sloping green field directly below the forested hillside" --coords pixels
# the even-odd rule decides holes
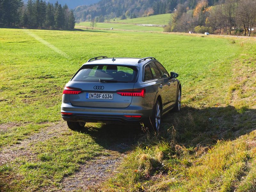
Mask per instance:
[[[126,24],[155,24],[155,25],[167,25],[169,20],[171,19],[171,13],[160,14],[160,15],[152,15],[149,17],[140,17],[135,19],[125,19],[120,20],[120,18],[115,18],[109,20],[109,22],[114,23],[126,23]],[[107,20],[108,21],[108,20]]]

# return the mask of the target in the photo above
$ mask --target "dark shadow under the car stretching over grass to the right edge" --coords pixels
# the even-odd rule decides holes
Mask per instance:
[[[105,149],[126,152],[138,143],[154,145],[161,140],[196,147],[213,145],[217,140],[233,140],[256,129],[256,110],[233,106],[196,109],[183,107],[180,113],[169,112],[162,118],[161,131],[150,137],[138,125],[102,124],[84,131]],[[148,138],[148,139],[147,139]],[[145,140],[146,139],[146,140]]]

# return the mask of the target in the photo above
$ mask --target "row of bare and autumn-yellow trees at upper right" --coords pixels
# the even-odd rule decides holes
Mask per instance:
[[[165,31],[217,31],[219,34],[251,36],[253,29],[256,30],[255,0],[226,0],[215,6],[201,0],[193,11],[186,4],[179,4]]]

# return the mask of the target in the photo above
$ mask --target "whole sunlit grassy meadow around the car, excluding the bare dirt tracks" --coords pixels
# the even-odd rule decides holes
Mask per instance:
[[[255,49],[254,38],[0,28],[0,154],[61,121],[63,87],[89,58],[154,56],[182,84],[182,110],[163,118],[159,134],[66,130],[31,145],[32,157],[0,164],[0,189],[61,190],[63,178],[133,132],[134,147],[101,190],[253,191]]]

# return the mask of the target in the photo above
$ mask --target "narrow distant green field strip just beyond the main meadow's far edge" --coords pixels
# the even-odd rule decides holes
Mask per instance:
[[[76,24],[76,28],[87,28],[92,29],[90,22],[85,21]],[[81,27],[83,26],[83,27]],[[163,27],[148,27],[148,26],[138,26],[136,24],[122,24],[122,23],[97,23],[96,29],[110,29],[113,28],[118,30],[132,30],[132,31],[159,31],[163,32]]]

